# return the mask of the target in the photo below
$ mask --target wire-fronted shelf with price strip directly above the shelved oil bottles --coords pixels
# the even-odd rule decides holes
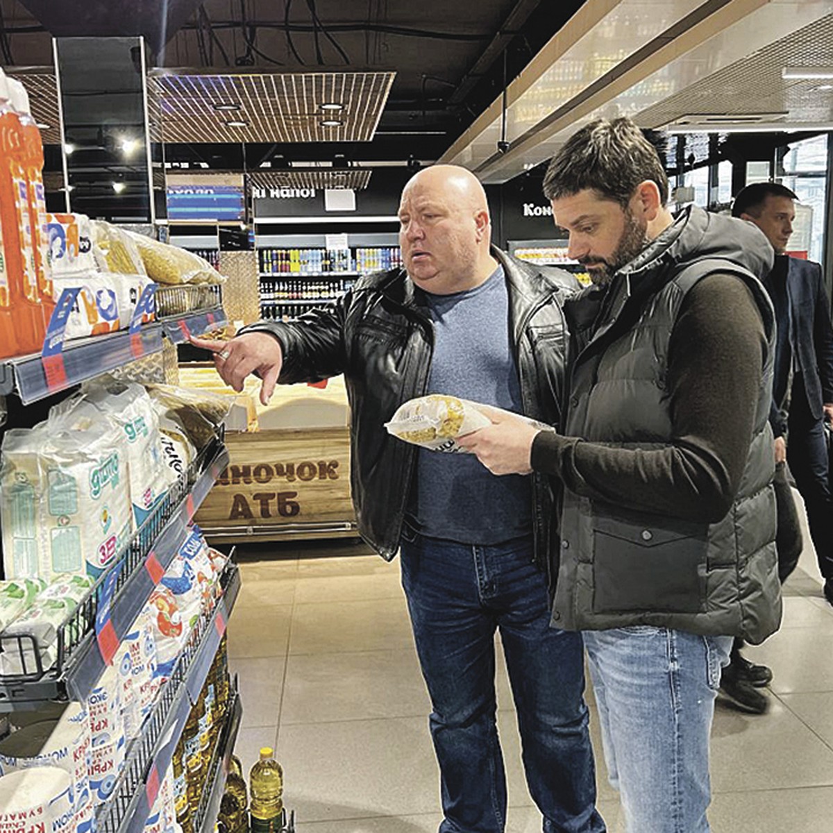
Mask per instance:
[[[171,678],[162,686],[156,706],[142,726],[142,734],[127,750],[124,768],[112,795],[97,809],[97,833],[142,833],[162,778],[171,765],[173,751],[185,729],[192,703],[197,701],[206,681],[237,601],[240,571],[231,559],[221,576],[221,583],[225,587],[222,598],[210,616],[203,618],[192,632]],[[238,701],[236,692],[235,700]],[[239,708],[239,701],[232,706],[232,719],[235,708]]]

